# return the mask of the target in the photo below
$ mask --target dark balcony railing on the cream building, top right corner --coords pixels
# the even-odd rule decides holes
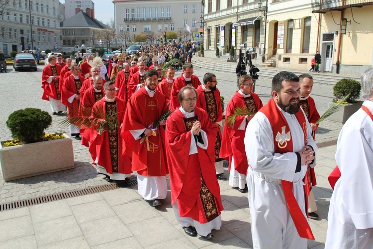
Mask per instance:
[[[312,13],[325,13],[329,10],[346,9],[350,7],[362,7],[363,5],[371,5],[373,1],[369,0],[312,0]]]

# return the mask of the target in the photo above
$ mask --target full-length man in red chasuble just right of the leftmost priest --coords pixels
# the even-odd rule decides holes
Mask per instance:
[[[67,106],[68,118],[79,117],[80,94],[85,78],[80,76],[80,70],[77,64],[71,66],[72,75],[67,77],[62,88],[61,100],[62,104]],[[80,138],[80,127],[70,124],[70,133],[76,138]]]

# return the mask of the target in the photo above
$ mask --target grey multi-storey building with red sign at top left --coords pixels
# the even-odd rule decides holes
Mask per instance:
[[[57,49],[61,46],[58,0],[7,1],[0,11],[0,48],[12,51]]]

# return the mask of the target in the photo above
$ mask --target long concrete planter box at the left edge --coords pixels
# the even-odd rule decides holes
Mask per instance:
[[[67,138],[0,148],[5,181],[74,168],[73,141]]]

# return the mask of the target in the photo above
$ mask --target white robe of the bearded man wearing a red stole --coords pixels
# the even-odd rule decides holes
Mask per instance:
[[[293,151],[300,151],[304,147],[302,128],[295,115],[290,115],[281,109],[280,111],[290,128]],[[303,111],[300,110],[300,112]],[[306,117],[305,120],[307,145],[312,146],[316,151],[311,126]],[[249,122],[244,142],[250,164],[247,185],[253,247],[255,249],[306,249],[307,239],[300,238],[295,228],[285,202],[281,179],[293,182],[294,197],[303,215],[306,216],[303,178],[307,172],[307,165],[302,165],[300,172],[295,173],[296,154],[274,152],[272,126],[261,112]],[[310,166],[314,167],[314,162]]]

